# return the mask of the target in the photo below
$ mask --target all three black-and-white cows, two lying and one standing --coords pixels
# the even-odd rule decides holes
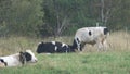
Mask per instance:
[[[86,44],[98,45],[100,49],[107,49],[106,38],[109,35],[107,27],[83,27],[76,32],[73,45],[58,41],[40,42],[37,47],[37,53],[67,53],[82,51]],[[15,54],[0,57],[0,67],[17,66],[29,62],[37,62],[37,58],[31,50],[18,52]]]

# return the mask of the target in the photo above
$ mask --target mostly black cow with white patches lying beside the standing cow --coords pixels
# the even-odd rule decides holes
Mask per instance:
[[[68,46],[64,42],[51,41],[51,42],[40,42],[37,48],[37,53],[64,53],[64,52],[75,52],[72,49],[72,46]]]

